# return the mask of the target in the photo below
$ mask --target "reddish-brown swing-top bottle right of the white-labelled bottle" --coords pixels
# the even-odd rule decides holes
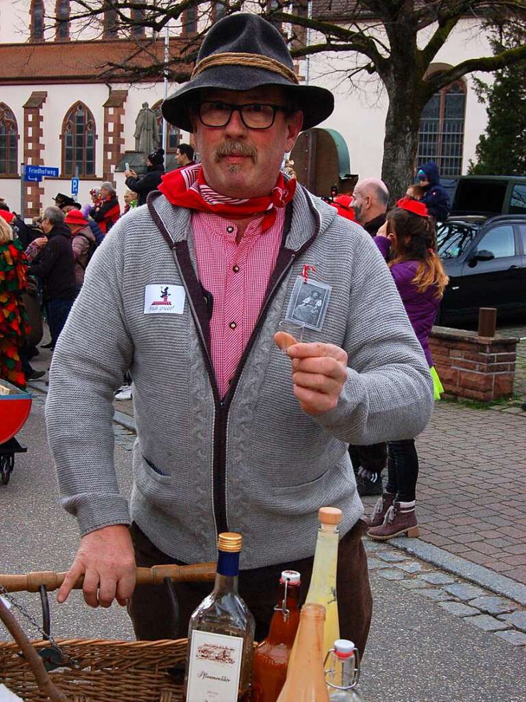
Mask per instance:
[[[287,677],[292,644],[299,625],[301,578],[297,571],[283,571],[279,580],[278,603],[269,635],[252,657],[252,702],[276,702]]]

